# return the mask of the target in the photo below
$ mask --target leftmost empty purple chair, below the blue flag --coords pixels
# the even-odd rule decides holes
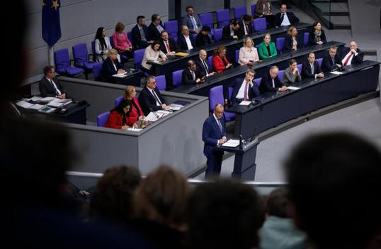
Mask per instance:
[[[84,70],[78,67],[72,67],[70,65],[69,59],[69,50],[67,48],[63,48],[61,50],[57,50],[54,52],[55,55],[55,70],[57,73],[62,75],[67,75],[69,77],[76,77],[79,74],[83,73]]]

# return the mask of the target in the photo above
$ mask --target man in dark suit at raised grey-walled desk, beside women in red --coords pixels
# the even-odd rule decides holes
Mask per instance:
[[[169,109],[166,105],[164,96],[161,96],[159,89],[156,87],[156,79],[153,76],[147,77],[146,86],[139,95],[139,104],[142,108],[144,116],[151,111],[159,111]]]

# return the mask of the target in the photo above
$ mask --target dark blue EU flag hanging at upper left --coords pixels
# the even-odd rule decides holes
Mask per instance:
[[[42,0],[42,39],[52,47],[61,38],[59,23],[59,0]]]

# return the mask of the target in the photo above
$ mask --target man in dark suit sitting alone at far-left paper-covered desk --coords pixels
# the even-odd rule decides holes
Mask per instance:
[[[38,84],[41,96],[54,96],[59,99],[66,99],[64,87],[55,78],[55,68],[52,66],[44,67],[44,75]]]

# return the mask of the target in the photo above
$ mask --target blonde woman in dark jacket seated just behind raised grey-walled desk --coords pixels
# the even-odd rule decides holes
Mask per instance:
[[[114,74],[123,74],[123,66],[118,60],[118,51],[115,49],[108,50],[107,59],[103,62],[101,79],[103,82],[115,83],[116,78],[113,77]]]

